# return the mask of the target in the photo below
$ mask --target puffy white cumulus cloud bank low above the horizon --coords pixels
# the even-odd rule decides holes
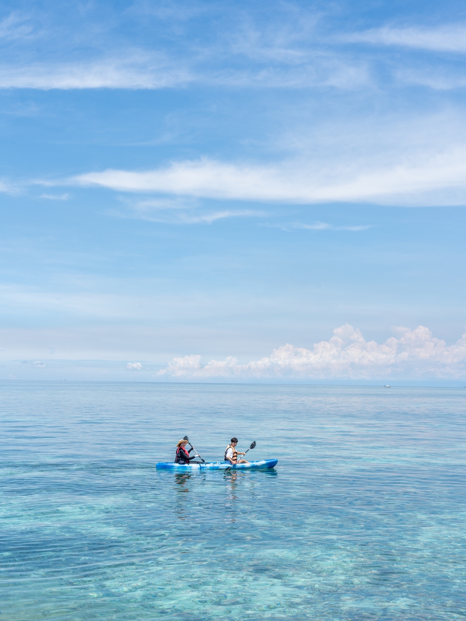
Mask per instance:
[[[173,358],[158,376],[186,379],[208,378],[466,378],[466,333],[454,344],[433,337],[419,325],[415,330],[398,328],[399,338],[385,343],[365,341],[359,330],[346,324],[333,330],[328,341],[313,350],[286,345],[269,358],[238,364],[236,358],[210,360],[202,366],[199,355]]]

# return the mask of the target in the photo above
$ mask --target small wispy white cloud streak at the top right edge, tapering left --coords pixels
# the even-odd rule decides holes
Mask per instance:
[[[436,29],[423,28],[374,28],[355,32],[344,37],[353,43],[400,45],[436,52],[466,52],[466,26],[447,24]]]

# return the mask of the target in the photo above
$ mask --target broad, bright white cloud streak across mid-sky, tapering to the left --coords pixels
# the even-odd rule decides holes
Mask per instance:
[[[257,166],[201,158],[145,172],[110,169],[85,173],[65,183],[124,192],[302,204],[465,204],[466,148],[400,156],[397,164],[378,168],[369,161],[336,161],[331,166],[295,160]]]

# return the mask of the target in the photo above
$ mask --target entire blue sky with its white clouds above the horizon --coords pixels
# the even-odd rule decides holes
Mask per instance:
[[[0,379],[466,381],[464,4],[4,2],[0,45]]]

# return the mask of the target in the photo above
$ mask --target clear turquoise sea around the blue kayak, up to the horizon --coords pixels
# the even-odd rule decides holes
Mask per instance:
[[[1,619],[464,619],[466,390],[3,383]],[[272,471],[156,471],[232,435]]]

